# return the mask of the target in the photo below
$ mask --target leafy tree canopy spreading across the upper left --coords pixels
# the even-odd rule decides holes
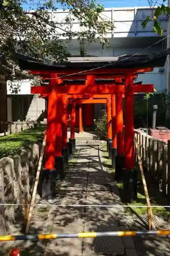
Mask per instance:
[[[33,1],[34,2],[34,1]],[[25,12],[23,4],[31,5],[30,0],[0,0],[0,74],[12,77],[27,77],[28,73],[20,73],[17,62],[13,57],[14,52],[27,54],[37,59],[51,61],[65,61],[70,56],[66,42],[78,37],[81,44],[90,44],[96,33],[101,44],[108,44],[106,33],[113,29],[110,21],[101,17],[104,7],[95,0],[46,0],[38,3],[36,9]],[[56,4],[63,9],[68,9],[72,14],[66,16],[62,23],[53,22],[49,11],[56,11]],[[55,13],[55,15],[57,15]],[[70,30],[72,21],[78,19],[82,32]],[[60,35],[56,35],[56,29]],[[52,35],[55,34],[55,36]],[[81,49],[82,50],[82,49]]]

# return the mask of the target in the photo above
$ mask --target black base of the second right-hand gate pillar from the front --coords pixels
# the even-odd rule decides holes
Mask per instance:
[[[125,168],[125,156],[115,156],[115,181],[123,180],[123,168]]]

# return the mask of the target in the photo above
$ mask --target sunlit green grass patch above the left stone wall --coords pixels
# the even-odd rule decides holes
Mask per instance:
[[[13,155],[21,148],[27,147],[31,142],[41,139],[45,127],[31,128],[17,134],[0,137],[0,159]]]

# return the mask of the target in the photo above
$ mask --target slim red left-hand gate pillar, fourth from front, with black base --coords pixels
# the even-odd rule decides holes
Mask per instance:
[[[72,100],[71,104],[71,129],[69,142],[72,143],[72,152],[76,152],[76,139],[75,139],[75,123],[76,123],[76,103]]]

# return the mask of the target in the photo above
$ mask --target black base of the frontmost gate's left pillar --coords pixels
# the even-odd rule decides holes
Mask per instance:
[[[42,199],[52,201],[55,199],[56,194],[56,181],[57,172],[56,169],[43,169],[41,173],[41,179],[39,182],[39,191]]]

